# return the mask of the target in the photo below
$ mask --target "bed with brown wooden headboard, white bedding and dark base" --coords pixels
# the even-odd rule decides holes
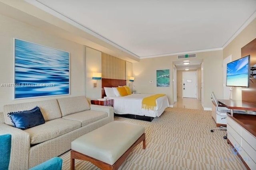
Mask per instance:
[[[102,98],[106,96],[104,87],[125,85],[126,80],[102,78]],[[142,99],[152,95],[131,94],[128,96],[108,96],[107,98],[114,100],[114,113],[116,116],[152,121],[154,117],[159,117],[164,112],[164,109],[169,106],[168,98],[165,95],[156,99],[156,107],[153,110],[142,109]]]

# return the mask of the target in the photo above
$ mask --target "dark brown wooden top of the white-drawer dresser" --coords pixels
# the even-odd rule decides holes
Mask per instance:
[[[233,116],[229,113],[227,115],[256,137],[256,115],[239,113],[234,113]]]

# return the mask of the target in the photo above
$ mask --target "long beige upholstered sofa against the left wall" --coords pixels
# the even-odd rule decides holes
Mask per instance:
[[[38,106],[45,123],[25,130],[13,126],[8,113]],[[12,135],[10,170],[27,170],[71,149],[76,138],[114,121],[113,107],[90,105],[85,96],[5,105],[0,134]]]

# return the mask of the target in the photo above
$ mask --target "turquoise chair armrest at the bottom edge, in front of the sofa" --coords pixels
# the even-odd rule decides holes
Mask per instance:
[[[42,164],[30,168],[29,170],[61,170],[61,168],[62,158],[54,157],[43,162]]]

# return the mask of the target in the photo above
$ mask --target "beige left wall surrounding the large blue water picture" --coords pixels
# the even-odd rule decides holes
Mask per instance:
[[[85,48],[72,41],[56,37],[26,23],[0,15],[0,84],[13,83],[13,39],[45,45],[55,49],[70,52],[70,95],[85,95]],[[13,88],[0,88],[0,111],[5,104],[48,100],[68,96],[52,96],[13,100]]]

